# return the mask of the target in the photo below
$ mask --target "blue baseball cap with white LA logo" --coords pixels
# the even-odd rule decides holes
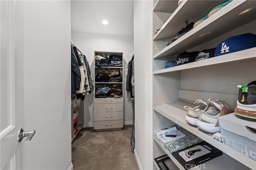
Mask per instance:
[[[256,47],[256,35],[245,33],[229,37],[216,47],[214,57]]]

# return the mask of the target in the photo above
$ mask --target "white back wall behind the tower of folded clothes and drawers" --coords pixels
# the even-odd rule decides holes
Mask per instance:
[[[71,39],[76,47],[86,56],[92,70],[92,76],[94,75],[94,51],[123,52],[124,70],[134,54],[132,36],[72,32]],[[124,85],[126,85],[125,76]],[[85,96],[83,127],[93,127],[93,98],[93,94]],[[125,125],[132,125],[132,100],[130,94],[126,92],[124,92],[124,123]]]

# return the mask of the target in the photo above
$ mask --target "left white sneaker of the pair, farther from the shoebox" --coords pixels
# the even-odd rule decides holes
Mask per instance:
[[[197,105],[194,108],[184,106],[184,109],[188,110],[185,120],[194,126],[196,126],[196,122],[198,121],[201,111],[206,110],[208,108],[208,106],[210,106],[210,102],[208,100],[198,99],[198,100],[196,100],[196,102],[194,102],[194,104],[196,104],[196,103],[197,103]]]

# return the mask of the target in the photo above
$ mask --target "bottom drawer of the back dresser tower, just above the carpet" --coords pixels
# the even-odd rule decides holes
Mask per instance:
[[[124,120],[94,121],[94,129],[123,128]]]

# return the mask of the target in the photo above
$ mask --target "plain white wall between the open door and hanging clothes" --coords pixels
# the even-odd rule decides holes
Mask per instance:
[[[26,170],[72,167],[70,27],[70,1],[24,1]]]

